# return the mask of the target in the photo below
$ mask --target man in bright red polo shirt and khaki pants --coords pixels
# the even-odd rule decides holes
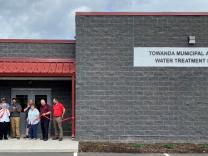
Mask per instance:
[[[63,128],[62,128],[62,119],[65,114],[65,108],[62,103],[58,101],[58,98],[53,99],[53,125],[55,129],[55,137],[53,140],[59,139],[63,140]]]

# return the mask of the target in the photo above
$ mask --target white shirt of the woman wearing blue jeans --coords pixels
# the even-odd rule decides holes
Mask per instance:
[[[29,112],[28,112],[28,117],[27,117],[27,121],[29,124],[31,125],[35,125],[35,124],[38,124],[40,119],[37,117],[40,115],[40,112],[38,111],[37,108],[35,108],[34,110],[30,109]],[[37,120],[35,120],[37,119]]]

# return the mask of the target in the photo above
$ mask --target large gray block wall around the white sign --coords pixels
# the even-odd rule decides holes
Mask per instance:
[[[208,140],[208,69],[133,67],[133,47],[208,46],[207,16],[77,16],[76,137]]]

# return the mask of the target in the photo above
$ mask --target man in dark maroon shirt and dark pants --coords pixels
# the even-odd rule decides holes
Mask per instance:
[[[41,124],[41,131],[42,137],[44,141],[48,140],[48,128],[50,123],[50,106],[45,102],[44,99],[40,100],[40,124]]]

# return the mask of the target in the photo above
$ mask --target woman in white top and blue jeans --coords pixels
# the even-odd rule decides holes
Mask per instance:
[[[35,108],[35,104],[32,103],[28,112],[27,121],[29,124],[29,137],[31,139],[37,139],[37,128],[40,122],[40,112]]]

